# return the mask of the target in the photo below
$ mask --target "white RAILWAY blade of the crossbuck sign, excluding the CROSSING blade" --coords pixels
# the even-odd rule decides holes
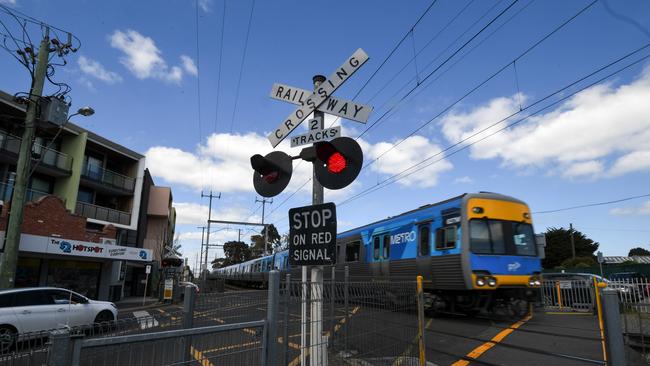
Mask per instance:
[[[307,98],[314,94],[306,89],[300,89],[284,84],[273,84],[271,88],[271,98],[282,100],[296,105],[303,105]],[[327,98],[323,104],[316,108],[317,110],[333,114],[352,121],[366,123],[372,107],[364,104],[355,103],[350,100],[339,99],[333,96]]]

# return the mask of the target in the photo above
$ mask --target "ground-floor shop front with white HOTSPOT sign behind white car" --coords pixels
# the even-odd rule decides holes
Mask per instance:
[[[125,264],[148,263],[151,255],[141,248],[23,234],[15,284],[62,287],[91,299],[116,300]]]

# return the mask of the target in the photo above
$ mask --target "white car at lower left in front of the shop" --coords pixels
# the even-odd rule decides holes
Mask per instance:
[[[20,334],[91,325],[117,319],[117,307],[56,287],[0,291],[0,350],[10,348]]]

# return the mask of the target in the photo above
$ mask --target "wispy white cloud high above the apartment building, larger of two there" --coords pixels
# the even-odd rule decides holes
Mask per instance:
[[[113,48],[124,53],[120,62],[138,79],[153,78],[172,83],[183,79],[183,69],[167,65],[153,39],[127,29],[124,32],[116,30],[109,40]]]

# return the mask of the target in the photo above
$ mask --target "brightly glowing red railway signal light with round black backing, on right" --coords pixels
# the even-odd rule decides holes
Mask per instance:
[[[349,137],[317,142],[303,149],[300,157],[314,164],[318,182],[327,189],[341,189],[359,175],[363,165],[361,146]]]

